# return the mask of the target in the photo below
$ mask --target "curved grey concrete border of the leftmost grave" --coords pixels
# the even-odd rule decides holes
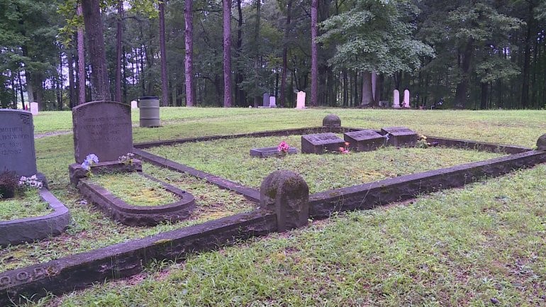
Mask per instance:
[[[67,229],[71,217],[67,207],[47,188],[38,190],[40,198],[53,210],[45,216],[18,218],[0,221],[0,246],[33,242],[50,236],[60,235]]]

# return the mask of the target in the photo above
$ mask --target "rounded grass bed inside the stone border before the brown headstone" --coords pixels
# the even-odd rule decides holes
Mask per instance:
[[[114,196],[132,206],[161,206],[180,201],[180,197],[136,173],[100,174],[90,182],[104,187]]]

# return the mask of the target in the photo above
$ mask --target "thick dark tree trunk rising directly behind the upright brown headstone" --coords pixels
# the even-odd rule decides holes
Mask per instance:
[[[99,0],[82,0],[85,31],[89,45],[91,60],[91,99],[110,100],[108,85],[108,69],[106,67],[106,52],[104,51],[104,35],[102,32],[101,9]]]

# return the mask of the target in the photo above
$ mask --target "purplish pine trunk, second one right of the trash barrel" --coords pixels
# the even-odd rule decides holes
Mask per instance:
[[[186,79],[186,106],[194,106],[194,23],[191,16],[191,6],[193,0],[186,0],[184,4],[184,40],[186,50],[184,50],[184,74]]]

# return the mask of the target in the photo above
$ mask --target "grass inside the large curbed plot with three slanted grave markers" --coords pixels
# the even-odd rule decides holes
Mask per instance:
[[[340,138],[343,136],[340,135]],[[250,156],[250,149],[276,147],[282,140],[291,147],[296,147],[299,153],[265,159]],[[392,146],[345,155],[338,152],[324,155],[302,154],[300,135],[211,140],[153,147],[147,151],[258,189],[269,173],[277,169],[289,169],[301,174],[311,193],[501,156],[491,152],[446,147]]]

